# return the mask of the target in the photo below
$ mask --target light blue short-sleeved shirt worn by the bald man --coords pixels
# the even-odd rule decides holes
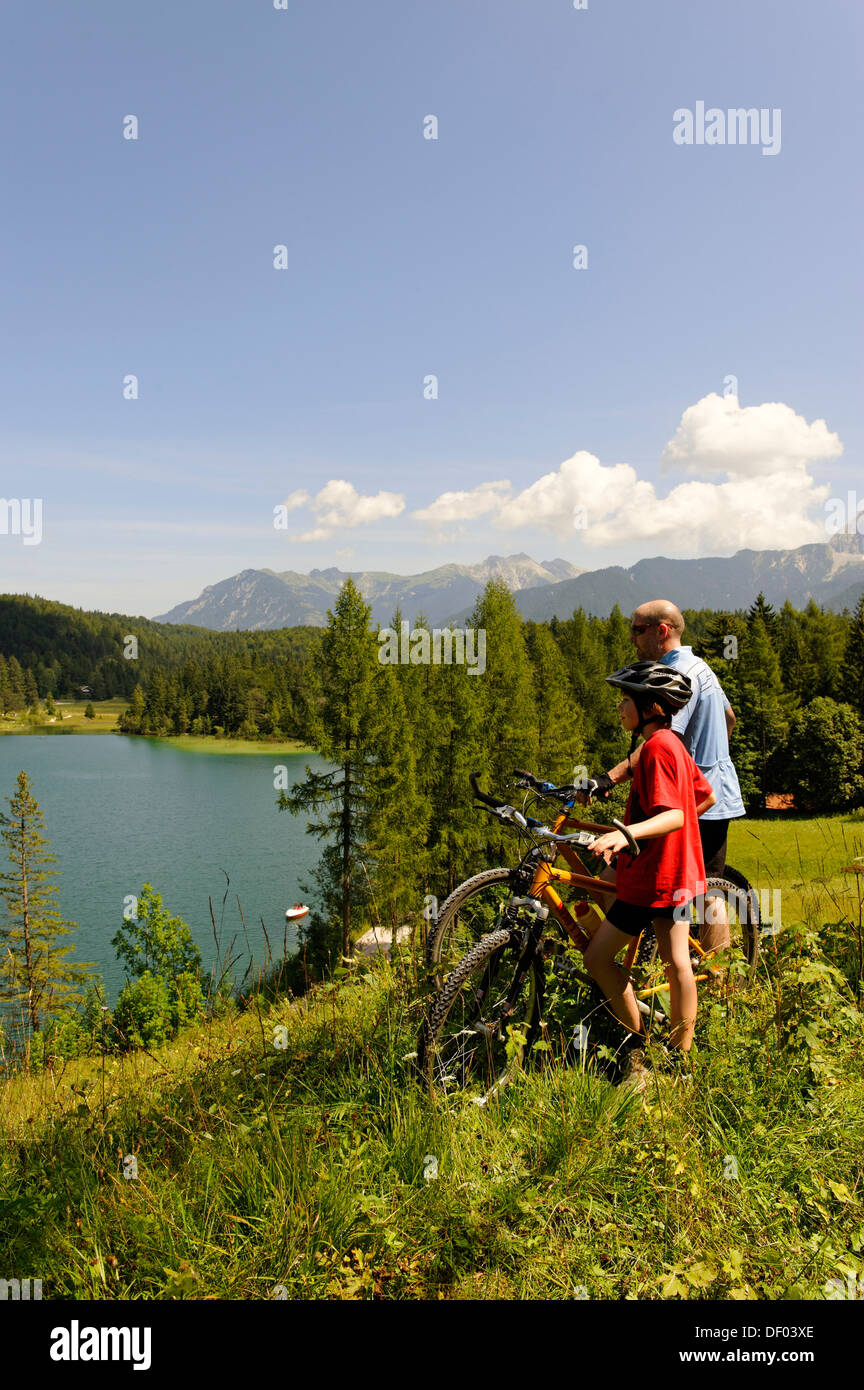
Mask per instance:
[[[717,796],[700,820],[733,820],[745,815],[738,773],[729,758],[729,734],[724,710],[729,701],[711,667],[693,656],[692,646],[674,646],[660,657],[664,666],[674,666],[689,676],[693,695],[683,709],[672,716],[672,728],[683,738],[683,746],[696,766],[711,783]]]

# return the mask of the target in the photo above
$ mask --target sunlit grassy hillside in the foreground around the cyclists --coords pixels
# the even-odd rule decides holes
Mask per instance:
[[[783,930],[747,992],[700,1001],[692,1084],[553,1061],[485,1109],[431,1101],[408,949],[151,1055],[10,1077],[7,1273],[83,1300],[824,1298],[864,1275],[861,838],[733,828]]]

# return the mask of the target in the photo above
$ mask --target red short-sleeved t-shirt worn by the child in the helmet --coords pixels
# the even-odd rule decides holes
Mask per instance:
[[[639,856],[618,855],[615,890],[638,908],[665,908],[704,892],[706,866],[696,806],[711,795],[711,784],[671,728],[658,728],[642,745],[633,770],[624,823],[635,826],[661,810],[683,810],[683,826],[668,835],[639,841]]]

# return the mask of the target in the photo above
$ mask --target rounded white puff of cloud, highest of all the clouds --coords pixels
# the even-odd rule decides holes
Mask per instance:
[[[765,477],[842,453],[839,435],[824,420],[808,425],[779,400],[742,407],[736,396],[711,393],[685,410],[661,463],[688,473]]]

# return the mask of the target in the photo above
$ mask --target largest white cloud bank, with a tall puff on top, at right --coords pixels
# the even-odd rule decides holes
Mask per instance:
[[[438,523],[488,516],[497,530],[545,530],[592,549],[638,542],[681,556],[792,549],[825,539],[831,489],[807,464],[842,452],[824,420],[807,424],[779,402],[742,409],[733,396],[708,395],[685,410],[663,463],[725,473],[724,481],[692,480],[660,496],[631,464],[603,464],[579,450],[521,492],[483,482],[445,492],[413,516]]]

